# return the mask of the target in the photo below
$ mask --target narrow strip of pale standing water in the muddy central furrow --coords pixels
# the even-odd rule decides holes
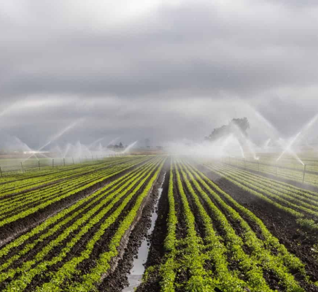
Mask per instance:
[[[141,279],[143,278],[143,274],[145,272],[144,264],[146,263],[148,253],[150,251],[150,246],[148,246],[147,238],[150,238],[150,235],[154,231],[154,224],[156,223],[156,220],[158,218],[157,208],[159,204],[159,200],[161,198],[163,185],[164,185],[164,179],[166,178],[166,173],[164,173],[164,178],[162,180],[161,186],[159,187],[159,195],[156,201],[156,204],[154,204],[154,211],[151,215],[151,227],[147,232],[147,237],[143,239],[143,242],[138,249],[138,255],[137,258],[133,260],[133,267],[131,268],[131,271],[128,274],[128,283],[129,286],[121,290],[121,292],[133,292],[135,291],[135,288],[137,288],[140,283]]]

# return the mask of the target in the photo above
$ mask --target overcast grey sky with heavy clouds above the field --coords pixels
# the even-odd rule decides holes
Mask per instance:
[[[317,114],[317,29],[314,0],[1,1],[0,133],[39,147],[81,119],[60,142],[158,145],[248,117],[287,137]]]

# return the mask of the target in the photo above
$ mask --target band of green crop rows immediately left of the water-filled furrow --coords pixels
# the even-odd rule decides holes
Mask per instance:
[[[117,255],[121,238],[163,164],[162,157],[149,159],[1,248],[0,288],[24,291],[32,281],[43,284],[37,287],[39,291],[75,291],[79,283],[84,291],[94,288]],[[108,251],[92,259],[91,272],[80,276],[78,265],[90,260],[93,249],[117,221],[120,224],[108,239]],[[72,281],[75,274],[80,279],[77,283]]]

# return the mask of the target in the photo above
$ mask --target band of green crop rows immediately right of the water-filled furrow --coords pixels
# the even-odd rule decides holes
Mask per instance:
[[[314,285],[305,265],[279,244],[256,215],[189,161],[175,159],[171,164],[167,195],[166,253],[159,266],[148,267],[144,281],[157,271],[164,292],[213,291],[216,287],[274,291],[271,279],[265,277],[272,274],[279,291],[305,291],[297,274],[298,279]]]

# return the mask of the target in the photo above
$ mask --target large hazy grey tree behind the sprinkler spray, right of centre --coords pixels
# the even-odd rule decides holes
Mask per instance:
[[[205,140],[215,141],[230,133],[236,133],[236,127],[239,128],[243,135],[247,135],[247,130],[249,129],[249,120],[244,117],[241,119],[232,119],[229,124],[220,126],[219,128],[214,128],[211,135],[205,137]]]

